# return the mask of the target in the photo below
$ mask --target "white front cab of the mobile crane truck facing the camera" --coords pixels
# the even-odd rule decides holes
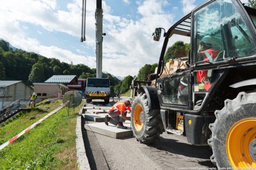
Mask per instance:
[[[85,88],[86,103],[90,103],[92,99],[104,99],[105,103],[109,103],[109,84],[109,78],[88,77]]]

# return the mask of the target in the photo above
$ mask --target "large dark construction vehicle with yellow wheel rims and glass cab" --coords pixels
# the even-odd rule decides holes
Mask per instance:
[[[218,169],[256,169],[255,15],[239,0],[211,0],[164,32],[158,68],[151,75],[155,87],[140,86],[131,110],[139,142],[152,143],[171,132],[191,144],[209,144]],[[156,28],[154,40],[162,30]],[[173,35],[191,38],[183,58],[187,68],[163,75]],[[200,50],[205,44],[212,45],[214,56]]]

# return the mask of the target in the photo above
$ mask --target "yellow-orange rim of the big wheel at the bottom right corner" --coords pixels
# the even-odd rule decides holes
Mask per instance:
[[[230,127],[226,137],[226,152],[229,162],[234,169],[252,167],[256,163],[251,156],[256,148],[252,147],[256,136],[256,119],[246,118]]]

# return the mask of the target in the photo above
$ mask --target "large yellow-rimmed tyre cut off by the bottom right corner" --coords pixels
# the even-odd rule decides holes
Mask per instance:
[[[221,168],[256,169],[256,93],[241,92],[226,99],[222,110],[216,110],[216,120],[209,125],[212,138],[208,144],[210,160]]]

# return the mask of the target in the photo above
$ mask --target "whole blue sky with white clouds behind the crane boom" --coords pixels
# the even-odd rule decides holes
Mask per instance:
[[[102,71],[134,76],[144,64],[158,63],[162,49],[152,40],[156,27],[168,30],[203,0],[105,0]],[[242,2],[247,2],[243,0]],[[0,38],[46,57],[96,68],[96,0],[87,0],[86,42],[81,43],[82,0],[3,0]],[[178,38],[174,38],[175,43]],[[184,39],[185,40],[185,39]],[[185,40],[187,41],[187,40]]]

